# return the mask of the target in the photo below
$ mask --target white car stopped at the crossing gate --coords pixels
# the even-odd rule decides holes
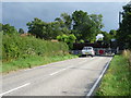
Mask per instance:
[[[82,56],[92,56],[92,57],[94,57],[95,51],[94,51],[93,47],[84,47],[82,49]]]

